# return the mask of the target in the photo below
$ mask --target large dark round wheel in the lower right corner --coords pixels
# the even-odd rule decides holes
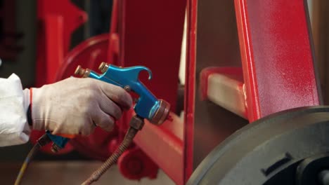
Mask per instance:
[[[187,184],[326,184],[328,151],[329,107],[283,111],[228,137]]]

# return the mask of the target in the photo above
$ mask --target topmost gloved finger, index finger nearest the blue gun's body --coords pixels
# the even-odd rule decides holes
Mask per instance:
[[[129,109],[131,107],[131,95],[129,95],[129,93],[123,88],[105,82],[101,83],[100,87],[102,92],[110,98],[110,100],[113,100],[123,109]]]

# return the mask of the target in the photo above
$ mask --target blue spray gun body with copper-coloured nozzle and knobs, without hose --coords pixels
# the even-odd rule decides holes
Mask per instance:
[[[156,125],[160,125],[166,120],[169,115],[169,103],[157,99],[138,79],[141,71],[148,71],[148,79],[150,80],[152,78],[150,69],[143,66],[117,67],[105,62],[101,63],[99,69],[103,74],[97,74],[91,69],[82,69],[82,67],[78,66],[75,74],[118,85],[127,91],[136,93],[139,97],[134,106],[134,111],[138,116],[146,118]]]

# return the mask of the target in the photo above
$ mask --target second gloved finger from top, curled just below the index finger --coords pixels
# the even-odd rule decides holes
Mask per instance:
[[[106,95],[102,95],[102,98],[98,99],[99,107],[102,111],[104,111],[106,114],[112,116],[115,118],[115,120],[118,120],[122,116],[122,110],[121,108],[115,104],[112,100],[108,99]]]

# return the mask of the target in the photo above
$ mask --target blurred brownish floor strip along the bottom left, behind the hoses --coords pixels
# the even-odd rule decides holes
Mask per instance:
[[[13,184],[15,181],[18,170],[20,169],[19,163],[1,163],[0,164],[0,184]],[[101,162],[85,162],[85,161],[50,161],[50,162],[33,162],[28,167],[22,185],[26,184],[48,184],[48,185],[72,185],[81,184],[93,170],[97,169]],[[120,184],[120,185],[133,185],[133,184],[158,184],[158,185],[171,185],[174,182],[167,177],[164,172],[159,171],[157,179],[150,180],[148,178],[141,179],[141,181],[131,181],[125,179],[113,166],[105,172],[101,179],[94,184]]]

